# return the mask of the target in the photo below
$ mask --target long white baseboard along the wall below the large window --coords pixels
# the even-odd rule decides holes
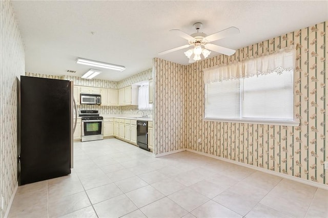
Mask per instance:
[[[293,181],[296,181],[296,182],[299,182],[299,183],[303,183],[303,184],[306,184],[306,185],[311,185],[311,186],[314,186],[314,187],[317,187],[317,188],[322,188],[322,189],[328,190],[328,185],[325,185],[325,184],[320,184],[320,183],[313,182],[313,181],[310,181],[310,180],[305,180],[305,179],[294,177],[294,176],[291,176],[291,175],[286,175],[286,174],[281,173],[281,172],[276,172],[276,171],[272,171],[272,170],[269,170],[269,169],[264,169],[264,168],[261,168],[261,167],[258,167],[258,166],[253,166],[253,165],[250,165],[250,164],[245,164],[245,163],[233,161],[233,160],[226,159],[226,158],[221,158],[221,157],[218,157],[218,156],[215,156],[215,155],[209,155],[209,154],[206,154],[206,153],[203,153],[203,152],[200,152],[200,151],[197,151],[197,150],[192,150],[192,149],[189,149],[189,148],[187,148],[186,150],[190,151],[190,152],[193,152],[193,153],[196,153],[198,155],[203,155],[203,156],[206,156],[206,157],[210,157],[210,158],[214,158],[214,159],[217,159],[217,160],[229,162],[229,163],[236,164],[236,165],[239,165],[239,166],[248,167],[248,168],[251,168],[251,169],[255,169],[255,170],[258,170],[258,171],[269,173],[269,174],[274,175],[274,176],[282,177],[284,179],[293,180]]]

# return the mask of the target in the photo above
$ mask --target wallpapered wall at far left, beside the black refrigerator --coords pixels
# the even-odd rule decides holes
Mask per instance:
[[[0,1],[0,198],[4,217],[17,184],[17,84],[24,75],[24,43],[9,1]]]

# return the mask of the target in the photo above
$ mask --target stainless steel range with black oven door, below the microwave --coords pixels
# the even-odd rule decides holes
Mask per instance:
[[[93,141],[104,139],[104,118],[98,111],[80,110],[78,116],[82,121],[81,141]]]

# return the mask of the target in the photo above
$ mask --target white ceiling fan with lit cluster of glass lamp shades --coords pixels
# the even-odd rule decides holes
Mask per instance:
[[[186,49],[186,48],[193,46],[192,49],[189,49],[188,51],[185,52],[185,55],[189,58],[189,63],[193,63],[193,62],[201,59],[201,57],[200,57],[201,54],[203,55],[204,58],[207,58],[211,54],[211,51],[218,52],[218,53],[225,54],[225,55],[233,55],[236,52],[236,50],[229,49],[229,48],[222,47],[222,46],[217,46],[217,45],[214,45],[209,42],[216,41],[221,38],[225,38],[230,35],[239,33],[238,28],[229,27],[229,28],[221,30],[217,33],[213,33],[211,35],[206,35],[205,33],[199,32],[199,29],[202,27],[202,23],[195,23],[193,25],[193,27],[197,30],[197,32],[193,33],[191,35],[183,32],[181,30],[177,30],[177,29],[170,30],[170,32],[173,32],[173,33],[177,34],[178,36],[187,39],[189,42],[189,45],[184,45],[184,46],[180,46],[180,47],[177,47],[174,49],[162,51],[162,52],[159,52],[158,54],[159,55],[168,54],[170,52],[175,52],[180,49]],[[211,50],[211,51],[209,51],[209,50]]]

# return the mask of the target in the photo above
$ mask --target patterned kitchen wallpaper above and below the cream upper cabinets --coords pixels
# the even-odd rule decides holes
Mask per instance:
[[[106,89],[120,89],[128,85],[149,80],[152,78],[152,69],[137,73],[121,81],[109,81],[102,79],[83,79],[76,76],[54,76],[46,74],[26,73],[26,76],[43,77],[52,79],[65,79],[74,81],[75,85],[93,86]],[[139,111],[138,106],[99,106],[99,105],[78,105],[77,110],[98,110],[100,114],[124,114],[124,115],[152,115],[153,110]]]

